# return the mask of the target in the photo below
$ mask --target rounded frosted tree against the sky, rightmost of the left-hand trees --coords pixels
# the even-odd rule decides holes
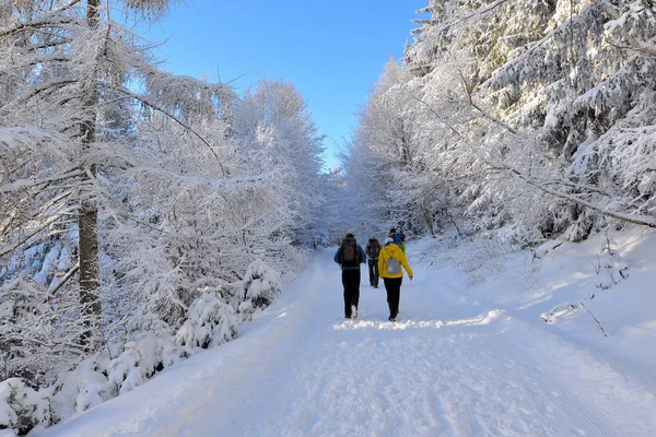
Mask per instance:
[[[294,85],[261,79],[235,106],[234,131],[246,152],[247,170],[280,178],[277,200],[291,215],[278,233],[302,246],[315,243],[324,201],[319,175],[324,138]]]

